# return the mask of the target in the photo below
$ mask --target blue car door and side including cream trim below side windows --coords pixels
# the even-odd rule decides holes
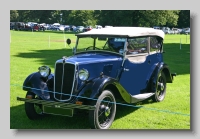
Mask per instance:
[[[138,46],[144,48],[144,45]],[[146,48],[147,51],[142,53],[130,56],[126,55],[123,64],[123,70],[119,82],[131,95],[145,93],[151,74],[156,65],[163,60],[162,54],[157,51],[157,48]]]

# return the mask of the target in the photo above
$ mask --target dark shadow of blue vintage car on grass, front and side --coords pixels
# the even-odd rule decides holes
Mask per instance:
[[[115,120],[135,112],[141,104],[150,103],[143,101],[140,105],[117,104]],[[24,103],[10,107],[10,129],[90,129],[88,111],[79,111],[73,117],[47,115],[40,120],[30,120],[26,116]]]

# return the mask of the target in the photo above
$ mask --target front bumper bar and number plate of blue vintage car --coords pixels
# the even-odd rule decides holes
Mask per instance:
[[[17,97],[18,101],[24,101],[28,103],[34,103],[37,105],[42,105],[42,111],[44,114],[62,115],[72,117],[74,114],[74,109],[84,109],[84,110],[95,110],[95,106],[82,105],[82,104],[72,104],[56,101],[47,101],[39,99],[30,98],[20,98]]]

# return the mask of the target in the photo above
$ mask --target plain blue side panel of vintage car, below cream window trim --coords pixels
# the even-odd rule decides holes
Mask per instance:
[[[142,90],[147,88],[150,75],[152,75],[157,65],[155,63],[161,61],[162,55],[160,53],[148,55],[143,63],[134,63],[126,59],[124,68],[128,69],[128,71],[123,71],[119,81],[120,84],[131,95],[140,94]]]

